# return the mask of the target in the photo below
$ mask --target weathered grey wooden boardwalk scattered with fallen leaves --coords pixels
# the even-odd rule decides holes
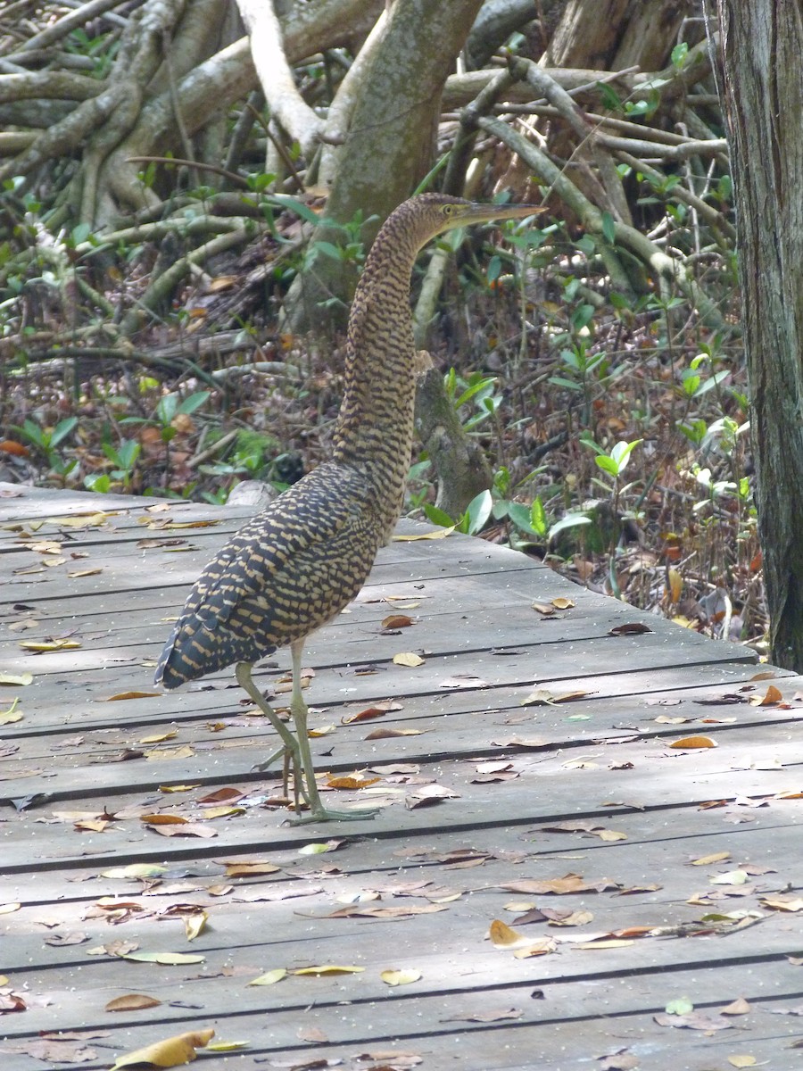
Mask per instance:
[[[394,542],[305,654],[324,800],[380,814],[291,826],[233,673],[151,684],[245,511],[0,496],[2,1071],[210,1029],[212,1071],[803,1068],[799,678],[480,540]]]

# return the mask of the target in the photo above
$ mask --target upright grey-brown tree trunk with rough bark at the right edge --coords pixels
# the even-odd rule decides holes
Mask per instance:
[[[803,670],[803,19],[718,0],[772,659]]]

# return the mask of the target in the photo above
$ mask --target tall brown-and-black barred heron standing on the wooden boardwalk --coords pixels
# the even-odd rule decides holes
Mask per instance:
[[[532,215],[527,205],[478,205],[423,194],[381,227],[365,261],[348,326],[345,392],[332,459],[319,465],[249,521],[198,577],[156,667],[165,688],[236,663],[237,679],[282,740],[273,758],[292,764],[309,808],[304,820],[367,817],[330,811],[315,781],[301,691],[306,637],[362,588],[402,512],[413,439],[416,352],[410,277],[421,248],[453,227]],[[252,667],[290,645],[296,735],[266,702]]]

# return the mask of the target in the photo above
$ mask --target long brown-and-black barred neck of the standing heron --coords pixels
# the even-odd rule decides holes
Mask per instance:
[[[365,262],[349,317],[346,390],[334,432],[334,459],[363,470],[398,516],[410,464],[415,350],[410,275],[419,246],[397,209]]]

